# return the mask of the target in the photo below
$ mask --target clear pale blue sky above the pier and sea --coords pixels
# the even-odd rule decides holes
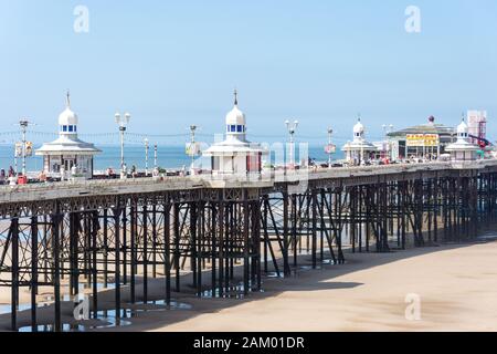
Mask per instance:
[[[73,30],[78,4],[89,33]],[[404,30],[410,4],[421,33]],[[0,132],[21,116],[56,131],[71,88],[80,132],[114,132],[129,111],[133,132],[222,133],[236,86],[257,140],[286,118],[347,139],[358,112],[379,137],[468,108],[489,112],[497,139],[495,0],[0,0]]]

